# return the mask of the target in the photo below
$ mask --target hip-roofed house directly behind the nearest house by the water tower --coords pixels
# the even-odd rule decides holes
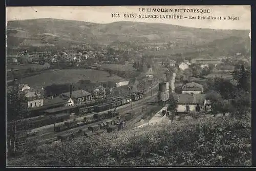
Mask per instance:
[[[182,94],[202,94],[203,86],[197,82],[189,82],[181,87]]]

